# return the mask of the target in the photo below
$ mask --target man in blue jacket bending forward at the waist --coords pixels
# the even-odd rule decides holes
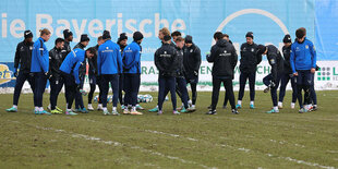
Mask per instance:
[[[67,110],[65,114],[74,116],[77,114],[72,111],[72,105],[75,94],[81,88],[80,80],[80,67],[83,64],[85,58],[94,57],[96,50],[88,48],[86,51],[76,48],[72,50],[64,59],[60,67],[61,77],[64,80],[65,98],[67,98]]]

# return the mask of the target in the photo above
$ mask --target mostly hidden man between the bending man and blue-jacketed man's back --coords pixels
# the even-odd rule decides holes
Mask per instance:
[[[93,95],[96,89],[96,84],[98,85],[99,88],[99,97],[98,97],[98,105],[97,105],[97,110],[102,110],[102,100],[101,100],[101,85],[100,85],[100,80],[98,79],[97,75],[97,50],[100,45],[105,43],[102,36],[99,36],[97,38],[97,45],[93,47],[96,52],[93,58],[88,58],[88,64],[89,64],[89,70],[88,70],[88,79],[89,79],[89,86],[90,90],[88,93],[88,110],[94,111],[92,101],[93,101]]]

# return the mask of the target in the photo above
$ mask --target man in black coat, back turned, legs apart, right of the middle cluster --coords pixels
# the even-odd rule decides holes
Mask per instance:
[[[222,33],[216,32],[214,34],[214,39],[216,45],[212,47],[210,55],[207,55],[206,57],[207,61],[213,63],[213,98],[210,109],[206,114],[216,114],[221,83],[224,83],[224,86],[226,87],[226,95],[228,95],[230,100],[232,113],[238,114],[239,112],[236,108],[232,86],[233,72],[238,62],[238,56],[234,47],[228,40],[224,39]]]

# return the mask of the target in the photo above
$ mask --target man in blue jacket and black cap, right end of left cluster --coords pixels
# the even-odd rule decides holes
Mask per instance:
[[[137,94],[141,85],[141,43],[143,35],[141,32],[135,32],[133,35],[134,41],[126,46],[123,50],[123,73],[124,73],[124,114],[143,114],[136,110]],[[129,111],[128,105],[132,106]]]

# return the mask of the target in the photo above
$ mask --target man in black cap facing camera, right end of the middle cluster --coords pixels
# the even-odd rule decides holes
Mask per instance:
[[[191,86],[192,99],[188,95],[188,104],[190,105],[189,110],[195,111],[195,105],[197,100],[197,83],[198,83],[198,71],[201,67],[201,50],[193,43],[193,37],[190,35],[185,36],[185,48],[183,53],[183,65],[186,83]]]

